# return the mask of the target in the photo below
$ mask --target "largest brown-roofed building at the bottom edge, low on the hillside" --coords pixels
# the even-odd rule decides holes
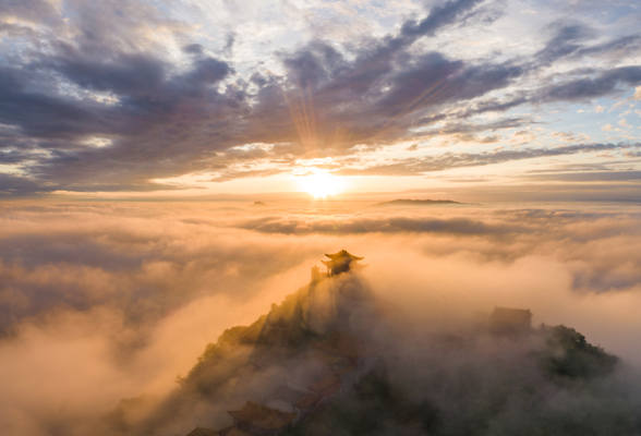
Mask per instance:
[[[227,413],[233,417],[235,428],[254,436],[279,435],[297,416],[295,413],[282,412],[254,401],[247,401],[241,410],[230,410]]]

